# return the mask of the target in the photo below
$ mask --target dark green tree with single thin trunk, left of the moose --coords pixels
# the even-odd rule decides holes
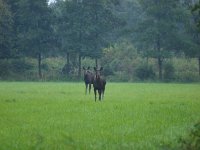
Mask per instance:
[[[52,49],[52,12],[47,0],[23,0],[19,10],[19,35],[24,53],[38,59],[38,76],[42,78],[42,56]]]

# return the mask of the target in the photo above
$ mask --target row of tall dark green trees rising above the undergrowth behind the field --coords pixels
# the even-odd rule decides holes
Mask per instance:
[[[130,64],[141,56],[147,67],[136,73],[145,76],[153,58],[162,80],[164,61],[184,55],[197,59],[200,75],[198,11],[197,0],[0,0],[0,59],[35,58],[42,78],[46,57],[66,58],[67,76],[76,59],[81,77],[84,58],[96,67],[101,62],[112,74],[123,58]]]

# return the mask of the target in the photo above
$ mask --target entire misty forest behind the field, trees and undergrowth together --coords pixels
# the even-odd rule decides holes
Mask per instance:
[[[200,81],[198,0],[0,0],[0,80]]]

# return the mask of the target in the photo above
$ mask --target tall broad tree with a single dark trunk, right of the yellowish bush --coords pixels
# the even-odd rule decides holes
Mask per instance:
[[[157,58],[161,80],[164,58],[170,55],[170,51],[181,49],[182,7],[179,0],[141,0],[139,3],[144,16],[138,25],[137,39],[148,57]]]

